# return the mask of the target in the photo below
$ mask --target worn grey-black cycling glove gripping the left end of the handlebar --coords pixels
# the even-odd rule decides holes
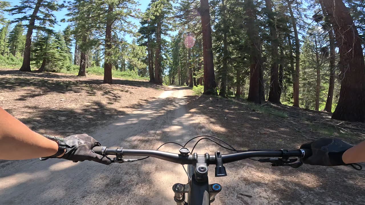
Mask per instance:
[[[73,162],[89,160],[99,162],[104,165],[110,165],[110,158],[95,154],[95,152],[92,151],[92,148],[101,146],[101,144],[91,136],[87,134],[71,135],[64,138],[64,140],[67,147],[66,153],[60,158],[72,160]]]

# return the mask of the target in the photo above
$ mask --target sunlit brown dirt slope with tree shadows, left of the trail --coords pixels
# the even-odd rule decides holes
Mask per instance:
[[[91,132],[125,115],[130,105],[155,97],[165,86],[103,76],[0,70],[0,107],[41,134]]]

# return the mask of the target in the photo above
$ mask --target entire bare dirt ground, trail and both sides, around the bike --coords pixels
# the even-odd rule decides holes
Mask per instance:
[[[236,149],[297,149],[320,137],[365,140],[365,124],[330,119],[330,114],[285,105],[192,96],[187,87],[101,76],[0,70],[0,106],[45,134],[88,133],[105,146],[154,149],[193,136],[222,138]],[[191,148],[194,140],[188,147]],[[163,151],[177,152],[165,145]],[[198,153],[223,150],[201,141]],[[271,167],[252,160],[226,164],[217,205],[360,205],[365,172],[351,167]],[[0,204],[174,204],[171,187],[184,183],[181,166],[149,158],[110,166],[37,159],[0,161]]]

